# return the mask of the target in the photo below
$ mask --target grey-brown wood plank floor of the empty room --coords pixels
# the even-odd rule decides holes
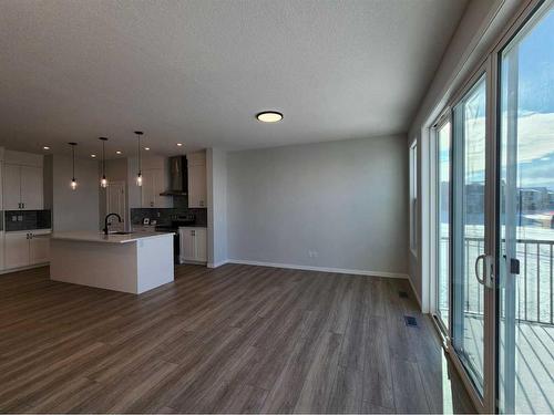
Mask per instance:
[[[48,273],[0,276],[2,412],[474,412],[404,280],[182,266],[133,295]]]

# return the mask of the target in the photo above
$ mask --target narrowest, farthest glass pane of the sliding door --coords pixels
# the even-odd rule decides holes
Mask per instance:
[[[449,328],[450,302],[450,122],[442,125],[437,134],[438,144],[438,281],[437,314],[444,328]]]

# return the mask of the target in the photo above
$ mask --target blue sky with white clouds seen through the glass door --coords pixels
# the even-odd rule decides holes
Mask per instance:
[[[547,187],[554,190],[554,7],[532,22],[507,45],[501,71],[502,139],[505,141],[507,60],[517,54],[517,160],[520,187]],[[472,92],[468,101],[466,147],[468,181],[484,179],[484,91]],[[440,160],[448,160],[441,151]],[[441,163],[447,177],[448,164]],[[505,169],[503,169],[505,173]]]

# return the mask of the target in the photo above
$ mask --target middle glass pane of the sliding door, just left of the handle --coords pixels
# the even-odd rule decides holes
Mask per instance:
[[[483,77],[454,108],[453,345],[481,393],[484,289],[474,264],[485,249],[485,106]]]

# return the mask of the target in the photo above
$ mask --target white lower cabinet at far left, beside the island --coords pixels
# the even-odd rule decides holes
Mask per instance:
[[[4,234],[4,269],[35,266],[50,261],[50,230],[23,230]]]

